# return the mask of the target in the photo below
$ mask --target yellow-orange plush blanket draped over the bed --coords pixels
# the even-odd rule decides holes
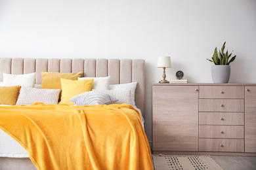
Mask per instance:
[[[0,107],[0,128],[28,150],[37,169],[153,169],[131,105]]]

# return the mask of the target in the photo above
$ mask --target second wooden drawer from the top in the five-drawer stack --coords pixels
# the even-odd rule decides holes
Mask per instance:
[[[244,99],[199,99],[200,112],[244,112]]]

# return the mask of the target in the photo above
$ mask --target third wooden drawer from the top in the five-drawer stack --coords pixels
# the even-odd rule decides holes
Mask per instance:
[[[244,125],[244,112],[199,112],[200,125]]]

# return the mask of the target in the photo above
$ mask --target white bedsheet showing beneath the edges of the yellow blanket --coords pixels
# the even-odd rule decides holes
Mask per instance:
[[[0,105],[3,106],[3,105]],[[5,105],[6,106],[6,105]],[[144,128],[144,118],[142,117],[140,109],[136,108],[140,112],[142,119],[142,126]],[[3,130],[0,129],[0,157],[10,158],[29,158],[28,151],[24,149],[17,141],[11,136],[7,135]]]

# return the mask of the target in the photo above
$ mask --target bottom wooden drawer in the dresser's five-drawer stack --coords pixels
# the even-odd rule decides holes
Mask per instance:
[[[244,139],[199,139],[199,151],[244,152]]]

